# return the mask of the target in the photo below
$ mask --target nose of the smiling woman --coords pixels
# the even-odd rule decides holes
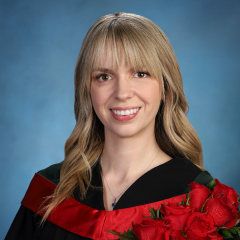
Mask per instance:
[[[126,101],[134,96],[134,91],[131,86],[131,80],[125,74],[118,76],[114,91],[115,98],[120,101]]]

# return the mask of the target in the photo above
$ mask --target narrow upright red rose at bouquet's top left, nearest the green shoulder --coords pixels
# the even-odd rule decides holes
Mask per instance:
[[[190,183],[190,206],[196,209],[196,212],[200,212],[203,204],[207,200],[208,196],[212,193],[208,188],[199,183]]]

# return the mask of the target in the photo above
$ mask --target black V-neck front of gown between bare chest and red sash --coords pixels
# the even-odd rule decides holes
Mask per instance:
[[[113,210],[153,203],[182,194],[202,172],[194,163],[183,156],[175,156],[139,177],[124,192]],[[74,191],[74,198],[82,204],[97,210],[105,210],[99,161],[92,167],[91,185],[86,196],[81,198],[80,189]],[[95,186],[95,187],[94,187]],[[105,210],[106,211],[106,210]]]

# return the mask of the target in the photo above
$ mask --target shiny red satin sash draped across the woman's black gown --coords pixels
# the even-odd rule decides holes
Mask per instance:
[[[36,173],[21,204],[42,217],[44,212],[39,212],[40,206],[45,197],[50,196],[56,187],[54,183]],[[107,229],[123,232],[132,227],[132,222],[141,223],[144,216],[150,216],[149,208],[152,206],[157,209],[163,202],[178,203],[183,198],[185,199],[185,194],[113,211],[96,210],[76,201],[74,198],[70,198],[52,211],[48,221],[70,232],[91,239],[116,239],[117,236],[109,233]]]

